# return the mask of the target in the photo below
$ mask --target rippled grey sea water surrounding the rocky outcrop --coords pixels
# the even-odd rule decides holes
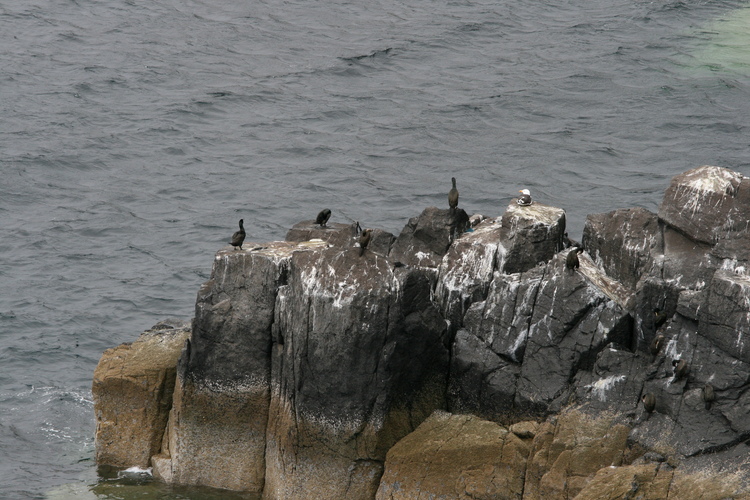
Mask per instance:
[[[0,0],[0,497],[211,498],[97,478],[103,350],[190,318],[244,218],[398,232],[529,188],[655,211],[750,173],[750,9],[727,1]]]

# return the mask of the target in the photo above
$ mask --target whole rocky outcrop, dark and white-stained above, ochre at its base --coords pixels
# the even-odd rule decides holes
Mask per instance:
[[[749,224],[704,166],[589,216],[577,262],[537,202],[227,247],[192,325],[104,353],[97,461],[269,499],[748,498]]]

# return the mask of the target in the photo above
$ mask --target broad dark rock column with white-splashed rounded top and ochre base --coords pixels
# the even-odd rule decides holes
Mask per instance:
[[[430,295],[426,272],[375,252],[294,254],[274,312],[264,494],[374,494],[390,446],[445,407],[449,342]]]

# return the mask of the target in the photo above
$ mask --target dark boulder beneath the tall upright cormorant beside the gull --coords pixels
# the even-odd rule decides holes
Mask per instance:
[[[419,217],[409,219],[393,242],[390,258],[408,266],[436,268],[467,227],[469,216],[463,209],[428,207]]]

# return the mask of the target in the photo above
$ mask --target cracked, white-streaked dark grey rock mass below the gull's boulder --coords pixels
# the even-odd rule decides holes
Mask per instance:
[[[599,352],[613,343],[630,344],[627,311],[584,273],[566,272],[564,261],[558,254],[525,273],[496,273],[487,299],[469,308],[466,330],[454,342],[461,357],[452,365],[452,408],[493,418],[479,398],[491,393],[502,401],[513,397],[512,408],[495,415],[498,420],[553,413],[575,392],[576,373],[590,370]],[[484,361],[472,363],[472,349]]]

